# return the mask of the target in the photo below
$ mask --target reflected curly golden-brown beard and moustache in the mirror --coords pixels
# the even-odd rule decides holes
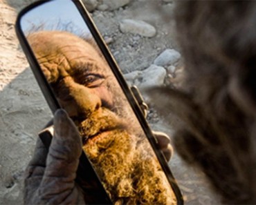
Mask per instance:
[[[131,135],[115,113],[102,108],[79,130],[83,149],[114,204],[176,204],[147,139]]]

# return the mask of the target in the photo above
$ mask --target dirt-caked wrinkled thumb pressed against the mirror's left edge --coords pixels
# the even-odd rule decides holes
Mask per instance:
[[[82,153],[82,139],[64,110],[57,110],[55,113],[54,129],[42,183],[48,183],[48,178],[51,180],[53,177],[73,182]]]

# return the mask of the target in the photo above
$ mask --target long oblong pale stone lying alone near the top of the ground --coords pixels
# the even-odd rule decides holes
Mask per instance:
[[[124,33],[132,33],[143,37],[154,37],[156,28],[145,21],[124,19],[120,22],[120,30]]]

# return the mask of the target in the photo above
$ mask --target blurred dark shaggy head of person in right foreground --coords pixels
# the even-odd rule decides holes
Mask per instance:
[[[183,119],[176,150],[224,204],[256,204],[255,25],[256,1],[180,1],[185,85],[154,92],[163,115],[169,109]]]

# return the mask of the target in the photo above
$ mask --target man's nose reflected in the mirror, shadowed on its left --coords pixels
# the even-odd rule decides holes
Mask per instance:
[[[100,97],[93,92],[93,89],[75,83],[71,77],[64,79],[64,89],[60,104],[70,117],[84,119],[102,105]]]

